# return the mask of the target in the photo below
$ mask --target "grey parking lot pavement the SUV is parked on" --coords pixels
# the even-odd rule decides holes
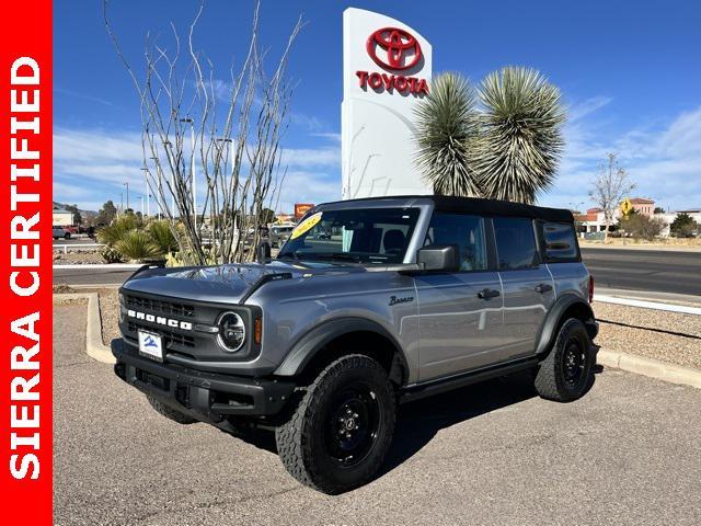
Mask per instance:
[[[701,390],[614,370],[582,400],[528,378],[402,408],[384,473],[340,496],[257,445],[154,413],[88,358],[84,307],[55,307],[58,525],[701,524]]]

